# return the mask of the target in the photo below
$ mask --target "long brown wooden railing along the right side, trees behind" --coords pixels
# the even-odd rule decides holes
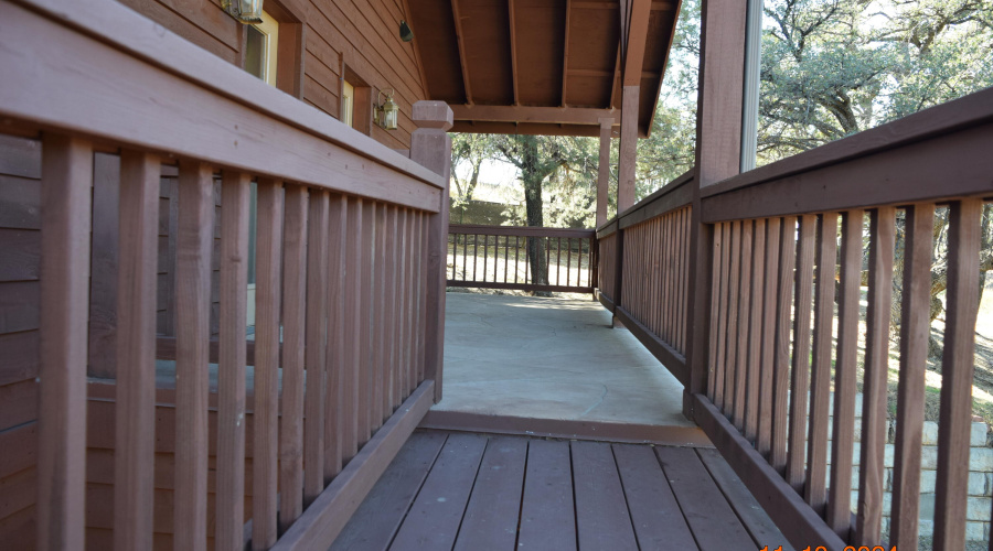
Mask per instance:
[[[948,287],[932,540],[965,547],[989,151],[993,89],[703,190],[686,175],[599,228],[601,302],[687,385],[687,413],[798,549],[918,549],[937,238]],[[681,290],[686,267],[695,292]]]

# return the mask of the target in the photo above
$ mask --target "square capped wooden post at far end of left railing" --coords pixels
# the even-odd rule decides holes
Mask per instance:
[[[424,377],[435,380],[435,402],[441,401],[445,344],[445,268],[448,258],[448,181],[451,175],[451,108],[445,101],[414,104],[417,130],[410,136],[410,159],[445,179],[438,214],[428,218],[427,310],[425,312]]]

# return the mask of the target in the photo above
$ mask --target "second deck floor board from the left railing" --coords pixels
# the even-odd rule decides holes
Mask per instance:
[[[487,437],[477,434],[448,437],[392,550],[452,548],[485,446]]]

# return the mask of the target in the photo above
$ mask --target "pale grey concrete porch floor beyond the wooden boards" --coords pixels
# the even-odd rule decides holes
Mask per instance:
[[[435,410],[695,426],[683,387],[591,300],[447,294]]]

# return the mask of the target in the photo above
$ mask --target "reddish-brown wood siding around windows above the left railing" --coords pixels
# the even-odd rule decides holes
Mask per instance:
[[[214,55],[238,66],[244,64],[246,28],[224,13],[220,0],[122,0],[122,3]],[[266,11],[285,14],[277,19],[296,20],[302,25],[302,48],[292,57],[302,64],[302,86],[299,93],[293,93],[297,97],[338,118],[343,65],[372,88],[373,100],[378,90],[396,90],[399,128],[386,131],[373,125],[371,132],[374,139],[391,148],[410,147],[410,132],[416,128],[410,119],[413,105],[427,97],[415,43],[399,40],[401,20],[410,19],[405,14],[404,3],[403,0],[266,1]],[[286,67],[285,60],[288,57],[280,53],[280,72]],[[355,117],[359,116],[356,112]]]

